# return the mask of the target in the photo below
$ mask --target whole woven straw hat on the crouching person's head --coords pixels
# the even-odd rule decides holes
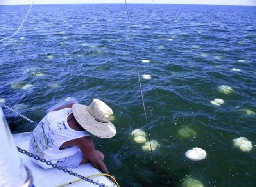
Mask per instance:
[[[73,115],[86,131],[100,138],[111,138],[116,134],[115,126],[109,122],[112,109],[99,99],[93,99],[89,106],[73,104]]]

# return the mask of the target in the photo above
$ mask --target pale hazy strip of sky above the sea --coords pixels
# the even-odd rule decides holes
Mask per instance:
[[[32,0],[0,0],[0,5],[31,4]],[[125,0],[35,0],[35,4],[124,3]],[[251,5],[256,0],[127,0],[127,3]]]

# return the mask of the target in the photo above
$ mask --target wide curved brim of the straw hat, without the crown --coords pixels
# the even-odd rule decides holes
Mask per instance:
[[[116,128],[111,122],[102,123],[97,121],[89,112],[88,106],[73,104],[73,115],[75,120],[86,131],[100,138],[111,138],[116,134]]]

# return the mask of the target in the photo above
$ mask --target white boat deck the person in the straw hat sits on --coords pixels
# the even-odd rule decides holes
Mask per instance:
[[[17,146],[22,149],[28,150],[29,148],[29,139],[31,132],[13,134],[14,141]],[[32,161],[32,158],[28,157],[25,154],[19,153],[20,158],[23,161],[23,164],[27,166],[31,171],[34,179],[34,185],[36,187],[56,187],[58,185],[63,185],[64,183],[69,183],[79,178],[59,171],[56,168],[43,169]],[[77,168],[72,168],[72,171],[80,174],[82,176],[89,176],[97,173],[101,173],[98,169],[91,166],[90,163],[81,164]],[[93,181],[98,183],[103,183],[107,187],[116,187],[116,185],[105,176],[95,176],[91,178]],[[92,183],[86,182],[84,180],[68,185],[67,187],[97,187]]]

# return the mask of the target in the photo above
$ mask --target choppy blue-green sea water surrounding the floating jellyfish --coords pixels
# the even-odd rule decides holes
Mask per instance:
[[[28,9],[0,6],[0,39]],[[209,187],[256,186],[256,7],[128,10],[150,137],[160,145],[153,153],[158,185],[189,186],[184,180],[193,178]],[[233,92],[220,92],[222,85]],[[99,98],[113,109],[116,136],[93,139],[118,182],[155,186],[151,155],[131,136],[147,128],[124,4],[34,5],[20,32],[0,43],[0,98],[8,106],[39,122],[68,96],[86,105]],[[225,103],[211,104],[215,98]],[[34,129],[4,112],[13,133]],[[250,152],[233,146],[240,136],[252,142]],[[194,147],[206,159],[188,160],[184,153]]]

